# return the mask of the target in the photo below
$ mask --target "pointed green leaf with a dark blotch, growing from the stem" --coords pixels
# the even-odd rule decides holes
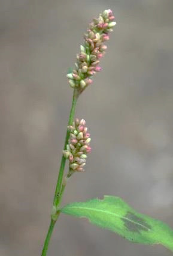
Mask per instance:
[[[111,230],[130,242],[147,245],[161,244],[173,251],[173,230],[165,223],[137,213],[121,198],[105,196],[71,203],[60,210],[62,213],[86,217],[92,224]]]

